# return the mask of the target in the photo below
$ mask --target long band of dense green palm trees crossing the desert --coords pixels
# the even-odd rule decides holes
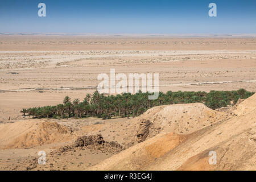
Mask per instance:
[[[245,89],[233,91],[210,91],[207,92],[159,92],[156,100],[148,100],[150,93],[139,92],[137,94],[123,93],[117,96],[105,96],[95,91],[92,95],[87,94],[83,101],[78,98],[71,100],[66,96],[63,104],[56,106],[31,107],[20,110],[23,115],[32,115],[34,118],[83,118],[100,117],[110,119],[112,117],[135,117],[144,113],[147,109],[159,105],[188,104],[201,102],[211,109],[236,104],[239,98],[245,99],[254,92]]]

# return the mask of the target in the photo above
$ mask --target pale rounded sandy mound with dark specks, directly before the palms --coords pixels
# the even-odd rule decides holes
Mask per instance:
[[[154,107],[138,119],[148,119],[152,122],[148,135],[151,137],[154,135],[151,133],[154,133],[156,129],[163,132],[174,131],[177,134],[192,133],[224,117],[224,113],[209,109],[204,104],[195,103]]]

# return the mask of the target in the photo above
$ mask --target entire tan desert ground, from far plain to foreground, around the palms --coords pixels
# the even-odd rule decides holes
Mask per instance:
[[[19,113],[67,95],[82,100],[110,68],[159,73],[162,92],[255,92],[256,38],[0,35],[0,170],[256,169],[255,95],[222,110],[178,104],[131,119]],[[39,151],[46,165],[37,163]],[[216,165],[209,151],[217,152]]]

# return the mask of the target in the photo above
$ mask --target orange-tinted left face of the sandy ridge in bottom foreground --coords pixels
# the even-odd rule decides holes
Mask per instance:
[[[142,170],[172,150],[186,139],[185,135],[174,133],[158,134],[156,137],[136,144],[125,151],[114,155],[100,164],[90,168],[92,170]]]

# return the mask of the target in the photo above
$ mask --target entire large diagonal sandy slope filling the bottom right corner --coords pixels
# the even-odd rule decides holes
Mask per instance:
[[[187,135],[160,133],[104,160],[91,169],[255,170],[255,103],[256,94],[241,102],[234,110],[235,115],[232,118],[214,122],[212,125]],[[159,113],[165,107],[160,106],[159,111],[153,115],[161,115]],[[182,105],[177,107],[182,107]],[[184,105],[184,107],[187,106]],[[168,109],[172,110],[171,107]],[[150,112],[148,110],[148,113]],[[191,117],[195,116],[191,115]],[[215,151],[217,154],[216,165],[208,162],[210,151]]]

